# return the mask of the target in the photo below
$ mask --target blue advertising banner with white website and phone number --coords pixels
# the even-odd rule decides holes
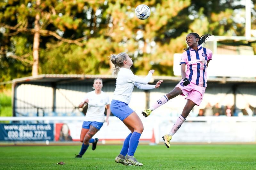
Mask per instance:
[[[53,123],[49,124],[2,124],[0,123],[0,141],[40,141],[54,140]]]

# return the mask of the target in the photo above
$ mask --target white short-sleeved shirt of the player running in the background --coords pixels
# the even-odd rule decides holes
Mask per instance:
[[[95,90],[88,92],[83,101],[88,99],[88,109],[84,118],[84,121],[89,122],[105,122],[105,106],[109,104],[108,95],[101,91],[100,94],[96,94]]]

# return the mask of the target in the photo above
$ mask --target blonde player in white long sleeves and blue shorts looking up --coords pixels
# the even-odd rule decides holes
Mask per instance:
[[[118,55],[110,56],[111,62],[115,65],[113,76],[116,78],[116,89],[110,104],[110,110],[113,115],[124,122],[131,133],[124,140],[123,148],[116,157],[116,162],[124,165],[142,166],[134,157],[134,152],[139,144],[140,135],[143,131],[143,124],[140,117],[128,106],[131,100],[134,85],[139,89],[149,90],[160,86],[163,80],[159,80],[156,85],[148,85],[149,80],[154,73],[150,70],[145,78],[135,76],[130,70],[132,58],[122,52]],[[126,156],[127,154],[127,156]],[[125,158],[126,156],[126,158]]]

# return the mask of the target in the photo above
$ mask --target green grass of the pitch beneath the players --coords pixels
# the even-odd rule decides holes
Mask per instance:
[[[91,146],[82,159],[74,146],[1,146],[1,169],[244,169],[256,167],[255,144],[139,145],[135,158],[144,165],[124,166],[115,162],[121,145]],[[58,162],[65,165],[55,165]]]

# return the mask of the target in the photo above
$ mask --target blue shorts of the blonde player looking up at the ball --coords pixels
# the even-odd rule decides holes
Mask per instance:
[[[128,106],[127,103],[124,103],[119,100],[112,100],[110,104],[110,110],[113,115],[118,117],[123,121],[126,117],[131,115],[134,111]]]

